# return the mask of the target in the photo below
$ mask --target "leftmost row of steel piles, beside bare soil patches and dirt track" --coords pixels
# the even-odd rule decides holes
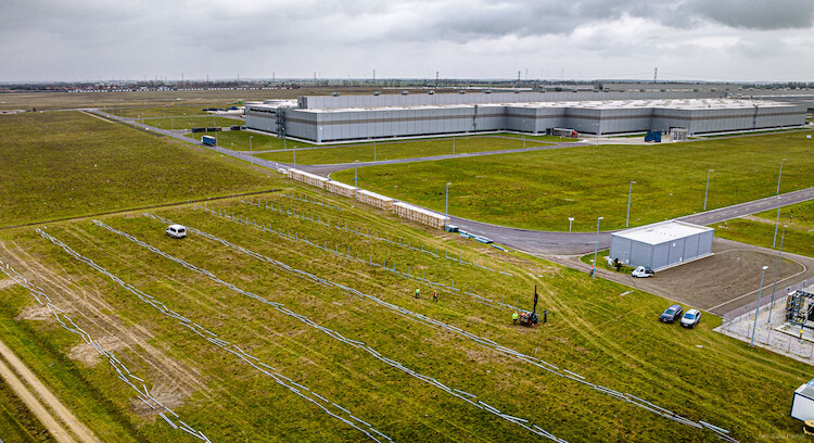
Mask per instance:
[[[39,228],[37,229],[37,231],[39,231]],[[3,267],[3,265],[5,266]],[[116,371],[119,380],[124,381],[127,385],[132,388],[132,390],[138,393],[137,397],[141,400],[148,407],[150,407],[150,409],[157,410],[161,418],[163,418],[164,421],[167,422],[167,425],[169,425],[173,429],[180,429],[199,440],[211,443],[209,439],[206,438],[203,431],[195,430],[191,426],[187,425],[180,419],[178,414],[154,398],[150,394],[150,390],[147,389],[147,384],[142,378],[137,377],[136,375],[130,372],[130,370],[127,369],[127,366],[125,366],[118,358],[116,358],[116,356],[112,352],[102,347],[102,345],[99,344],[98,341],[93,340],[93,338],[87,331],[78,327],[74,322],[74,320],[65,314],[64,311],[56,307],[51,301],[51,298],[46,294],[42,288],[25,279],[8,263],[3,264],[2,261],[0,261],[0,270],[2,270],[3,274],[14,280],[17,284],[27,289],[34,300],[36,300],[37,303],[40,304],[40,306],[46,306],[48,308],[48,312],[54,316],[56,322],[59,322],[65,330],[79,336],[85,341],[85,343],[88,343],[101,356],[105,357],[111,367]]]

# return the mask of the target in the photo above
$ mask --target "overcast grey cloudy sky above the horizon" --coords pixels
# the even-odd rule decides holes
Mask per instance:
[[[812,0],[0,0],[0,81],[814,81]]]

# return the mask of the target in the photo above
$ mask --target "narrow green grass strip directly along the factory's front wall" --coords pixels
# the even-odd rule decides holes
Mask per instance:
[[[289,140],[289,147],[292,143]],[[536,145],[547,144],[535,141]],[[527,147],[532,147],[526,141]],[[465,152],[483,152],[483,151],[498,151],[505,149],[517,149],[522,148],[522,140],[516,138],[506,137],[456,137],[455,138],[455,153],[462,154]],[[379,142],[376,143],[376,152],[373,152],[373,143],[366,144],[353,144],[348,147],[338,148],[326,148],[318,150],[297,151],[296,163],[302,165],[318,165],[318,164],[330,164],[330,163],[353,163],[358,160],[359,162],[372,162],[376,160],[395,160],[395,159],[409,159],[428,155],[444,155],[453,153],[453,139],[431,139],[431,140],[409,140],[409,141],[396,141],[396,142]],[[294,154],[291,152],[274,152],[267,154],[258,154],[257,156],[272,162],[287,162],[292,163],[294,161]]]

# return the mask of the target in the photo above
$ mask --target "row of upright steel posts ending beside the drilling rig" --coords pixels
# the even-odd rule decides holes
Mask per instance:
[[[450,291],[450,292],[456,292],[457,293],[457,292],[461,291],[460,288],[456,288],[455,287],[455,280],[451,280],[450,283],[447,286],[447,284],[444,284],[444,283],[440,283],[438,279],[437,279],[437,276],[435,276],[434,280],[427,279],[425,275],[424,275],[424,277],[414,276],[412,274],[410,274],[410,268],[409,267],[407,268],[406,273],[402,271],[402,270],[398,270],[396,268],[395,264],[392,264],[393,267],[390,268],[390,267],[387,267],[387,261],[386,260],[382,260],[381,265],[378,262],[373,262],[372,254],[368,255],[368,260],[365,260],[365,257],[361,257],[358,254],[358,252],[356,253],[356,255],[351,254],[351,246],[346,246],[345,250],[341,250],[340,246],[336,245],[335,246],[336,249],[334,250],[334,249],[331,249],[328,245],[327,241],[323,242],[323,243],[320,243],[319,240],[316,240],[316,239],[310,239],[309,240],[308,236],[301,237],[300,232],[294,232],[292,235],[291,230],[289,230],[288,232],[283,232],[282,230],[280,230],[280,228],[277,228],[277,230],[274,230],[271,228],[271,225],[266,225],[265,223],[258,225],[256,220],[250,220],[250,219],[243,218],[241,215],[239,215],[239,216],[236,217],[233,214],[229,215],[226,212],[215,211],[213,208],[209,208],[209,207],[203,206],[203,205],[201,205],[201,206],[195,205],[195,206],[192,206],[192,208],[193,210],[201,210],[201,211],[204,211],[204,212],[206,212],[208,214],[216,215],[218,217],[221,217],[221,218],[234,221],[234,223],[240,223],[240,224],[243,224],[243,225],[246,225],[246,226],[251,226],[251,227],[253,227],[255,229],[258,229],[258,230],[262,230],[262,231],[277,233],[278,237],[281,237],[281,238],[284,238],[284,239],[293,240],[293,241],[296,241],[296,242],[302,241],[305,244],[315,246],[315,248],[320,249],[320,250],[326,251],[326,252],[330,252],[330,253],[335,254],[338,256],[341,256],[343,258],[348,258],[348,260],[353,260],[353,261],[356,261],[356,262],[359,262],[359,263],[366,263],[366,264],[368,264],[370,266],[379,267],[379,268],[381,268],[383,270],[386,270],[389,273],[395,274],[395,275],[397,275],[399,277],[403,277],[403,278],[406,278],[408,280],[412,280],[412,281],[425,283],[425,284],[429,284],[429,286],[432,286],[432,287],[435,287],[435,288],[441,288],[441,289],[444,289],[444,290],[447,290],[447,291]],[[150,217],[154,217],[152,214],[144,213],[144,215],[145,216],[150,216]],[[481,295],[481,294],[478,294],[478,293],[471,292],[471,291],[465,292],[465,294],[466,295],[470,295],[473,299],[475,299],[478,302],[483,303],[483,304],[485,304],[487,306],[491,306],[491,307],[506,308],[506,309],[516,309],[516,306],[512,306],[510,304],[506,304],[504,302],[498,302],[498,301],[486,299],[485,298],[485,292],[484,292],[484,295]]]

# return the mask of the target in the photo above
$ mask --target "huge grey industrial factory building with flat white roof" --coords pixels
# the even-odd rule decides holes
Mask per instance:
[[[570,128],[689,135],[796,127],[807,106],[718,92],[521,92],[306,96],[245,104],[246,126],[316,143]]]

